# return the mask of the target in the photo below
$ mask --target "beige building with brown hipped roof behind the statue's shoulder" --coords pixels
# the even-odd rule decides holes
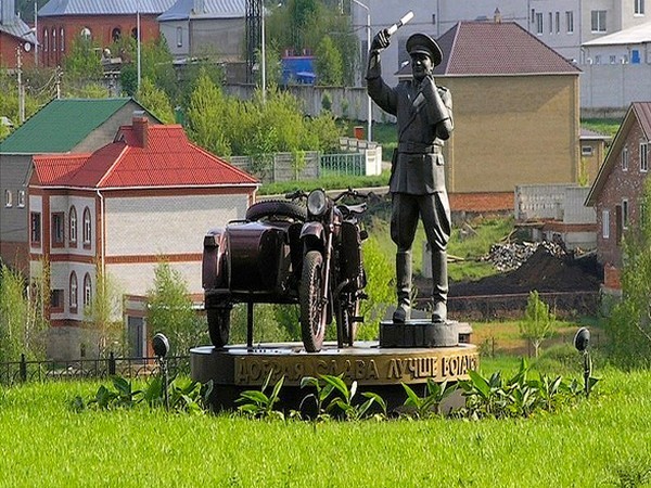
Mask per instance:
[[[512,198],[519,184],[578,181],[579,69],[511,22],[461,22],[438,43],[436,82],[454,101],[444,147],[450,194]]]

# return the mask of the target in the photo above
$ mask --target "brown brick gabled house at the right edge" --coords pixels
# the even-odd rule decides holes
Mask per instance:
[[[651,159],[651,102],[630,104],[586,205],[597,210],[597,253],[607,293],[620,293],[622,235],[639,221]]]

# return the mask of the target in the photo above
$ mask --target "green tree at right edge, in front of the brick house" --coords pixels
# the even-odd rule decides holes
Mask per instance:
[[[607,321],[611,357],[622,368],[651,367],[651,178],[638,208],[622,246],[623,299]]]

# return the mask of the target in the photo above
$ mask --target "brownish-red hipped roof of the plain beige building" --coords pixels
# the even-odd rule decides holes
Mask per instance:
[[[580,69],[514,22],[459,22],[437,39],[438,76],[578,75]],[[409,66],[399,75],[411,73]]]

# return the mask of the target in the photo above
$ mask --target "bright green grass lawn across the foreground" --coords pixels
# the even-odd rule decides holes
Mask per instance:
[[[639,486],[621,480],[651,470],[651,374],[597,375],[589,400],[528,420],[333,421],[316,428],[68,408],[97,383],[3,388],[0,486]]]

